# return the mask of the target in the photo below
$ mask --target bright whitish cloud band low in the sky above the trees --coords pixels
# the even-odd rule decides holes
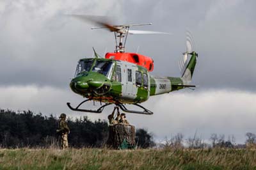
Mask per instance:
[[[2,109],[27,110],[58,116],[66,112],[76,118],[89,116],[92,120],[106,119],[113,106],[107,107],[102,114],[72,112],[66,103],[79,104],[82,97],[75,95],[70,89],[57,89],[36,86],[11,86],[0,88],[0,104]],[[151,116],[129,114],[127,118],[137,128],[147,128],[163,139],[180,132],[186,137],[198,135],[209,139],[212,133],[235,135],[237,142],[244,142],[246,132],[256,129],[256,93],[246,91],[177,91],[174,93],[150,98],[142,105],[154,111]],[[4,107],[3,107],[4,106]],[[85,105],[96,108],[100,104]],[[135,108],[133,108],[135,109]]]

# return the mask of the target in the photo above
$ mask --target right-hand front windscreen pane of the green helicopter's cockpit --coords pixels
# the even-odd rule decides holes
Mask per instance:
[[[110,79],[113,70],[113,61],[100,61],[97,60],[92,68],[92,72],[97,72],[105,75]]]

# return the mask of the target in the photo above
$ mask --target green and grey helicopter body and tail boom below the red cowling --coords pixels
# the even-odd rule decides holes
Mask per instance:
[[[147,68],[134,63],[85,58],[79,60],[70,88],[74,93],[100,102],[139,104],[150,96],[186,88],[184,84],[182,77],[150,76]]]

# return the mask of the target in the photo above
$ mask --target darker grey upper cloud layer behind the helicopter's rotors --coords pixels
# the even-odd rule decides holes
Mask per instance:
[[[139,27],[173,35],[129,36],[127,50],[150,56],[153,74],[179,76],[178,61],[189,28],[199,54],[194,81],[201,88],[254,90],[254,1],[1,1],[3,85],[68,86],[79,58],[113,51],[114,37],[69,13],[109,15],[118,24],[153,22]],[[137,29],[138,27],[136,27]]]

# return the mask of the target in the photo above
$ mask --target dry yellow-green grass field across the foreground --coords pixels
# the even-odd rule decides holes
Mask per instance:
[[[256,150],[1,149],[0,169],[256,169]]]

